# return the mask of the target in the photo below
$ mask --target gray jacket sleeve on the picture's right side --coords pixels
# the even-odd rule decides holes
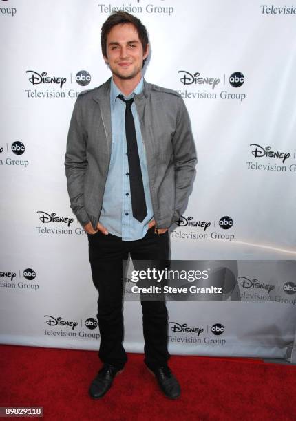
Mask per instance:
[[[197,156],[191,122],[184,100],[179,98],[176,131],[173,135],[173,155],[175,167],[175,211],[171,224],[178,221],[187,202],[197,164]]]

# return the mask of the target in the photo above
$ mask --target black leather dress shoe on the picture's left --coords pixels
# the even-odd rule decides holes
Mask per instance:
[[[102,398],[112,386],[114,377],[121,371],[123,369],[114,367],[114,365],[104,364],[94,380],[92,380],[89,387],[89,395],[94,399]]]

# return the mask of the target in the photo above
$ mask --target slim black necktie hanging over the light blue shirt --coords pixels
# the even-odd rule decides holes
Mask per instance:
[[[136,129],[134,117],[131,112],[131,104],[134,98],[125,100],[123,95],[118,98],[125,102],[125,136],[127,138],[127,159],[129,161],[129,185],[131,188],[131,208],[134,218],[139,222],[147,215],[144,186],[142,180],[142,172],[140,166],[140,158],[138,154],[138,144],[136,137]]]

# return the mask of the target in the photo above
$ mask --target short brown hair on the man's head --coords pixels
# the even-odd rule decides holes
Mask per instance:
[[[107,57],[107,36],[109,32],[115,25],[119,25],[120,23],[131,23],[134,25],[138,32],[139,39],[141,41],[143,52],[147,51],[147,45],[149,43],[147,29],[142,24],[140,19],[135,17],[133,14],[129,14],[127,12],[123,12],[119,10],[118,12],[114,12],[110,14],[107,20],[103,23],[101,29],[101,47],[102,53],[104,57]],[[144,60],[145,62],[145,60]]]

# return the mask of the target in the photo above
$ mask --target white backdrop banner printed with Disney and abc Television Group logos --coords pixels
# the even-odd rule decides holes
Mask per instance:
[[[184,285],[227,289],[169,292],[169,350],[295,362],[296,3],[108,1],[0,0],[0,342],[99,347],[64,156],[76,97],[110,76],[101,25],[121,9],[147,26],[145,78],[184,98],[198,151],[171,259],[208,274]],[[125,347],[143,352],[139,301],[124,314]]]

